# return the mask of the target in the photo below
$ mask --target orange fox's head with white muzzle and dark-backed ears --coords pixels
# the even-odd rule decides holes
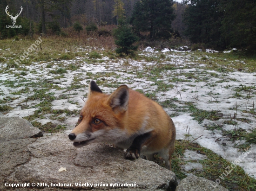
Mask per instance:
[[[82,108],[78,125],[68,135],[75,147],[95,142],[115,143],[122,140],[127,132],[122,124],[128,110],[129,89],[121,85],[112,94],[103,94],[91,81],[88,100]]]

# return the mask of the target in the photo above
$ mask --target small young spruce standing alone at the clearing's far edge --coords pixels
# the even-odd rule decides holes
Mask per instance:
[[[134,46],[133,44],[138,41],[139,38],[132,32],[132,28],[128,26],[123,16],[118,19],[118,26],[117,29],[114,30],[113,36],[115,38],[115,45],[119,46],[119,48],[115,50],[116,53],[124,52],[128,55],[132,51],[137,50],[138,46]]]

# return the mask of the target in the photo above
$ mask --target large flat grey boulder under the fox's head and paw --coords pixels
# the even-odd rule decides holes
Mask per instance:
[[[59,134],[38,138],[28,145],[27,149],[31,153],[31,158],[27,163],[15,167],[13,173],[5,178],[6,182],[61,183],[69,185],[56,187],[72,190],[175,191],[175,173],[148,160],[124,159],[122,150],[103,143],[75,148],[68,140],[67,134]],[[61,167],[67,171],[59,172]],[[79,183],[85,185],[77,185]],[[133,185],[121,185],[125,183]],[[88,184],[93,185],[90,187]]]

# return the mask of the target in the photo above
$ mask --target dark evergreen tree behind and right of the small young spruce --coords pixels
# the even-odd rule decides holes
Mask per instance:
[[[139,32],[150,32],[149,38],[170,37],[175,19],[173,0],[139,0],[134,6],[130,24]]]

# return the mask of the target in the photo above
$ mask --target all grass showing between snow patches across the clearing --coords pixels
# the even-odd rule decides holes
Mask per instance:
[[[188,86],[194,87],[191,92],[198,92],[198,89],[208,89],[209,93],[205,93],[205,96],[207,95],[215,95],[219,96],[220,94],[215,94],[214,92],[215,87],[220,85],[218,83],[228,83],[230,81],[240,81],[239,78],[235,79],[230,76],[227,76],[228,71],[241,71],[244,72],[256,72],[256,57],[252,56],[245,56],[240,53],[231,53],[231,54],[223,54],[223,53],[206,53],[206,52],[199,52],[195,51],[192,53],[188,52],[167,52],[167,53],[158,53],[155,54],[155,56],[144,56],[139,54],[130,55],[128,57],[126,56],[118,56],[116,55],[112,50],[105,47],[105,51],[102,51],[102,54],[104,57],[109,57],[111,60],[104,61],[101,59],[101,52],[98,51],[92,51],[89,52],[89,58],[87,57],[87,52],[83,50],[76,49],[76,47],[79,48],[86,48],[89,44],[89,40],[87,39],[81,39],[81,38],[58,38],[53,39],[51,37],[44,38],[43,43],[41,44],[42,47],[36,51],[32,52],[29,56],[29,59],[24,60],[19,66],[14,65],[15,59],[18,58],[19,55],[22,54],[23,49],[27,49],[32,43],[34,43],[35,39],[26,39],[20,42],[12,42],[10,39],[1,40],[0,49],[5,50],[7,48],[11,48],[11,51],[0,51],[1,57],[0,62],[3,64],[7,64],[6,68],[1,68],[0,73],[7,73],[9,75],[14,75],[16,78],[13,81],[5,80],[0,81],[1,86],[5,86],[7,88],[13,88],[11,90],[10,94],[13,95],[21,95],[26,96],[26,99],[19,103],[19,105],[16,105],[20,107],[21,109],[27,109],[27,108],[36,108],[33,115],[29,115],[27,117],[24,117],[25,119],[31,121],[34,126],[39,127],[41,130],[47,133],[54,133],[59,132],[62,129],[64,129],[64,126],[56,125],[52,122],[47,123],[45,125],[42,125],[38,121],[38,119],[45,118],[45,116],[49,116],[47,118],[50,118],[51,120],[57,121],[65,121],[67,117],[70,116],[77,116],[79,115],[78,110],[68,110],[68,109],[52,109],[52,101],[55,99],[68,99],[68,102],[72,104],[77,104],[77,102],[72,101],[74,96],[72,95],[78,95],[74,92],[83,92],[83,96],[86,97],[87,93],[84,92],[85,87],[88,87],[88,83],[91,79],[95,80],[98,85],[101,85],[101,87],[108,87],[108,88],[117,88],[121,84],[133,84],[137,79],[142,81],[144,79],[150,81],[150,84],[154,87],[144,89],[140,86],[141,89],[137,89],[137,91],[143,93],[145,96],[149,97],[150,99],[156,100],[158,99],[157,95],[165,96],[167,93],[166,91],[172,90],[172,96],[176,96],[172,99],[167,99],[164,102],[159,102],[162,107],[164,108],[170,108],[174,113],[171,114],[171,116],[178,116],[181,115],[180,112],[189,112],[194,117],[196,121],[201,123],[204,119],[208,119],[212,121],[211,124],[207,124],[204,127],[207,130],[221,130],[223,136],[227,136],[230,138],[230,140],[237,140],[237,139],[244,139],[248,142],[240,145],[236,145],[235,147],[237,150],[241,149],[243,152],[244,148],[248,148],[248,145],[251,143],[255,144],[255,137],[256,133],[255,131],[252,131],[251,133],[246,133],[242,129],[236,128],[236,130],[231,131],[224,131],[222,129],[223,124],[216,125],[214,124],[214,121],[223,119],[222,114],[219,111],[216,110],[210,110],[206,111],[203,109],[199,109],[193,105],[193,102],[181,102],[180,101],[180,95],[174,95],[175,91],[187,91],[186,89]],[[56,40],[58,43],[56,43]],[[85,41],[83,41],[85,40]],[[93,40],[93,38],[92,38]],[[96,43],[94,40],[93,43]],[[83,46],[84,45],[84,46]],[[100,47],[95,44],[92,44],[93,50],[94,47]],[[109,46],[111,47],[111,46]],[[114,47],[114,46],[112,46]],[[12,53],[11,53],[12,52]],[[15,55],[14,55],[15,54]],[[189,57],[187,57],[189,55]],[[11,58],[3,59],[2,57]],[[75,57],[82,57],[80,60],[77,60],[77,62],[74,64],[66,64],[62,62],[61,60],[72,60],[75,59]],[[176,61],[179,58],[176,57],[182,57],[184,63],[179,63]],[[201,58],[199,58],[201,57]],[[101,60],[100,60],[101,59]],[[110,70],[112,68],[111,63],[118,63],[119,59],[123,59],[123,64],[120,66],[117,66],[114,70]],[[134,66],[130,63],[130,60],[138,60],[141,62],[141,67]],[[243,61],[243,64],[240,62]],[[25,79],[22,76],[26,76],[26,74],[37,74],[36,70],[27,70],[25,66],[34,64],[33,62],[36,62],[36,64],[47,64],[46,70],[49,72],[48,79],[43,80],[43,75],[39,76],[36,80],[39,82],[33,82],[31,79],[29,79],[29,76],[27,76]],[[74,80],[67,88],[60,88],[56,83],[62,83],[65,81],[62,78],[65,78],[67,75],[67,72],[71,71],[80,71],[81,65],[84,66],[92,66],[92,65],[98,65],[103,62],[106,62],[105,68],[108,70],[107,72],[98,72],[94,73],[89,70],[83,70],[81,75],[74,76]],[[151,62],[151,63],[149,63]],[[58,63],[58,68],[53,69],[52,67]],[[188,63],[188,64],[187,64]],[[13,65],[12,65],[13,64]],[[150,65],[149,65],[150,64]],[[180,66],[179,64],[183,65]],[[185,64],[185,65],[184,65]],[[204,66],[199,66],[199,64],[204,64]],[[9,67],[15,67],[15,70],[9,70]],[[52,68],[52,69],[50,69]],[[84,67],[83,67],[84,68]],[[191,71],[185,71],[183,69],[192,69],[195,68],[196,70]],[[41,70],[44,70],[45,68],[42,68]],[[199,70],[198,70],[199,69]],[[241,70],[239,70],[241,69]],[[17,71],[19,70],[19,71]],[[220,73],[216,74],[207,70],[214,70],[218,71]],[[117,72],[125,72],[127,74],[131,74],[132,76],[125,76],[123,78],[122,74],[117,74]],[[55,75],[51,75],[55,74]],[[21,76],[20,76],[21,75]],[[108,79],[108,78],[115,78],[115,79]],[[212,78],[217,78],[216,82],[211,82]],[[81,81],[87,80],[86,84],[82,84]],[[67,81],[67,80],[66,80]],[[120,82],[121,81],[121,82]],[[184,83],[185,82],[185,83]],[[191,85],[189,83],[191,82],[205,82],[207,85],[203,85],[202,87],[199,87],[197,85]],[[176,86],[176,84],[178,84]],[[193,83],[194,84],[194,83]],[[182,86],[187,87],[182,87]],[[133,85],[131,85],[133,86]],[[19,88],[19,87],[22,87]],[[25,88],[24,88],[25,87]],[[134,87],[131,87],[134,88]],[[143,88],[143,90],[142,90]],[[223,91],[229,91],[229,90],[235,90],[235,92],[230,95],[233,96],[236,99],[249,99],[252,96],[255,96],[256,94],[256,88],[254,85],[246,84],[246,85],[240,85],[238,87],[234,87],[233,85],[222,85]],[[52,89],[56,90],[63,90],[59,96],[54,95],[52,92]],[[76,91],[78,90],[78,91]],[[173,91],[174,90],[174,91]],[[71,91],[71,92],[70,92]],[[5,96],[5,91],[3,89],[0,89],[0,95]],[[246,97],[246,95],[249,95],[250,97]],[[20,97],[21,97],[20,96]],[[202,95],[203,96],[203,95]],[[7,105],[9,102],[13,102],[16,98],[6,96],[2,100],[0,100],[1,105]],[[183,97],[182,97],[183,98]],[[250,98],[250,102],[251,102]],[[31,101],[32,104],[31,104]],[[38,103],[40,101],[40,103]],[[25,104],[25,102],[30,102],[30,104]],[[36,103],[34,103],[36,102]],[[250,104],[249,102],[249,104]],[[14,103],[14,102],[13,102]],[[229,102],[230,103],[230,102]],[[208,103],[206,103],[208,104]],[[251,106],[249,106],[251,107]],[[234,112],[236,108],[233,107],[230,112]],[[245,108],[243,108],[245,109]],[[27,112],[27,110],[24,112]],[[242,111],[243,113],[248,113],[253,116],[256,115],[256,109],[249,109]],[[47,115],[46,115],[47,114]],[[226,124],[237,126],[235,121],[231,121],[229,118],[224,119]],[[223,120],[223,121],[224,121]],[[238,121],[248,122],[252,123],[251,121],[247,120],[245,116],[241,116],[237,119]],[[238,122],[239,123],[239,122]],[[188,134],[185,136],[189,136]],[[191,136],[191,135],[190,135]],[[175,172],[176,176],[179,179],[183,179],[186,177],[185,173],[183,172],[181,166],[184,165],[186,162],[182,159],[183,153],[186,149],[196,151],[198,153],[205,154],[208,157],[208,160],[201,160],[199,161],[203,166],[202,172],[196,172],[196,171],[189,171],[187,173],[195,173],[195,175],[208,178],[210,180],[215,181],[216,178],[219,178],[221,176],[222,172],[225,172],[226,166],[229,166],[230,163],[226,160],[222,159],[220,156],[218,156],[216,153],[211,152],[210,150],[203,148],[201,146],[198,146],[197,144],[191,143],[189,144],[188,141],[176,141],[176,149],[175,153],[173,155],[172,160],[172,170]],[[163,159],[155,155],[155,161],[161,165],[164,166]],[[191,161],[193,162],[193,161]],[[233,173],[234,172],[234,173]],[[253,178],[249,178],[243,170],[237,166],[236,169],[233,170],[229,176],[224,177],[224,180],[221,181],[221,185],[224,187],[229,188],[231,191],[235,190],[248,190],[251,191],[255,187],[255,180]],[[254,187],[253,187],[254,186]]]

